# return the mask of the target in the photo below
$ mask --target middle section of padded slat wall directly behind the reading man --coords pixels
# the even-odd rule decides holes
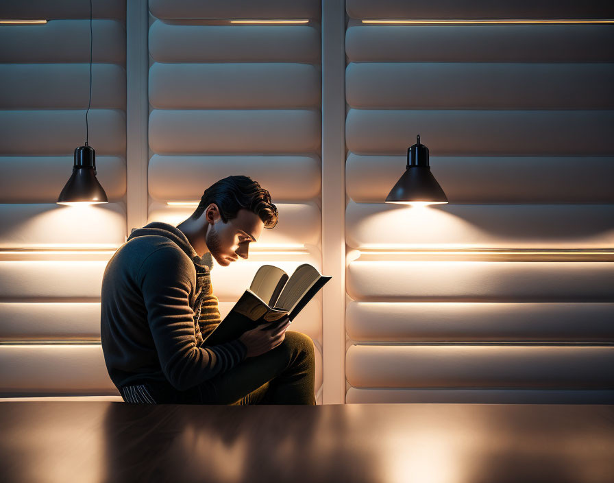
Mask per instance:
[[[288,274],[300,263],[321,269],[320,2],[157,0],[149,12],[148,222],[179,224],[195,205],[168,202],[197,202],[217,180],[243,174],[270,191],[280,217],[251,245],[249,261],[215,264],[213,293],[221,306],[236,301],[262,263]],[[260,252],[251,261],[259,249],[291,255]],[[314,340],[317,390],[321,320],[317,296],[294,329]]]

